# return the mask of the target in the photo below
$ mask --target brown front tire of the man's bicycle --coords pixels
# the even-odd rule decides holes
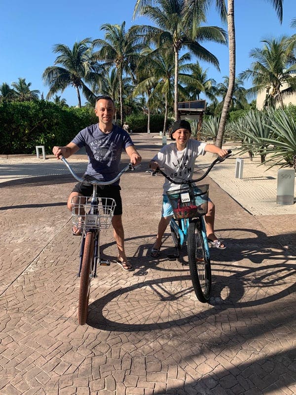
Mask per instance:
[[[91,268],[94,259],[94,232],[87,232],[83,249],[80,272],[80,288],[78,299],[78,323],[84,325],[87,320],[88,301],[90,293]]]

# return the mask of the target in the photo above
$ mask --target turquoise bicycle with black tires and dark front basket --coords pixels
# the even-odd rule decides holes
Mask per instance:
[[[218,162],[228,158],[216,158],[205,171],[205,173],[195,180],[182,180],[177,182],[172,180],[159,168],[148,171],[151,175],[162,174],[166,179],[176,185],[187,185],[180,190],[168,191],[166,194],[172,205],[174,217],[170,220],[170,230],[177,254],[168,255],[169,260],[179,258],[180,250],[187,242],[187,254],[189,271],[193,289],[197,299],[206,303],[211,297],[212,273],[209,243],[206,234],[206,227],[203,216],[208,211],[209,184],[195,186],[195,183],[203,180]]]

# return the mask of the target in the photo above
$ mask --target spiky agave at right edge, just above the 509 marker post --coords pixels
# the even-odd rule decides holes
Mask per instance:
[[[296,121],[292,114],[279,109],[271,119],[271,138],[264,138],[262,142],[268,144],[268,159],[265,163],[272,166],[294,167],[296,170]]]

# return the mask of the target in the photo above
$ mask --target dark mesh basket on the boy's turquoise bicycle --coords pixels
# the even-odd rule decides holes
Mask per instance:
[[[176,219],[193,218],[208,212],[209,184],[168,191]]]

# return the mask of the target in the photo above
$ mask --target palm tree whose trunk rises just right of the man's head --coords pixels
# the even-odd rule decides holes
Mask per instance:
[[[122,79],[123,74],[133,76],[138,54],[142,45],[137,43],[137,36],[134,31],[129,29],[125,31],[125,22],[121,25],[103,24],[101,30],[105,30],[105,40],[96,39],[93,41],[94,47],[98,46],[99,50],[94,53],[98,61],[103,61],[103,66],[115,66],[117,78],[119,81],[119,102],[120,102],[120,121],[123,123],[123,105],[122,105]]]

